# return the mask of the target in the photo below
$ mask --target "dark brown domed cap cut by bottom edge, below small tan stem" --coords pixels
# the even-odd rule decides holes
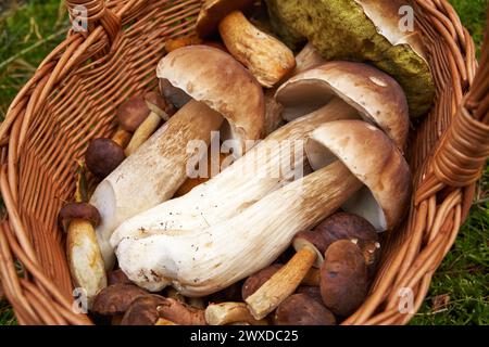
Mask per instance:
[[[294,294],[277,308],[275,325],[336,325],[335,316],[306,294]]]

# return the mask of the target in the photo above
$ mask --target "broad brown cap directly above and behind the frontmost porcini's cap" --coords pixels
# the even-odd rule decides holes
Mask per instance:
[[[290,78],[275,97],[284,105],[287,120],[310,114],[338,97],[404,149],[410,130],[405,94],[392,77],[375,67],[329,62]]]

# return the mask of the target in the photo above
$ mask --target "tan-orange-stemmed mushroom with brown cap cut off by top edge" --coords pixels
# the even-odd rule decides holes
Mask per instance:
[[[296,67],[293,53],[276,38],[260,30],[240,10],[253,0],[206,0],[197,20],[201,38],[218,29],[229,53],[271,88]]]

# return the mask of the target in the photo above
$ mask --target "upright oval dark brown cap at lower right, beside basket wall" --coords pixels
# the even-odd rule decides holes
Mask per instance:
[[[321,296],[336,316],[349,317],[365,300],[368,275],[360,248],[348,240],[331,244],[321,268]]]

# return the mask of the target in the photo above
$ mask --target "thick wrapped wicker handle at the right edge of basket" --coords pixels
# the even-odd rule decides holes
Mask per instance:
[[[480,67],[471,91],[435,152],[434,174],[449,187],[468,187],[480,178],[488,158],[489,31],[486,33]]]

